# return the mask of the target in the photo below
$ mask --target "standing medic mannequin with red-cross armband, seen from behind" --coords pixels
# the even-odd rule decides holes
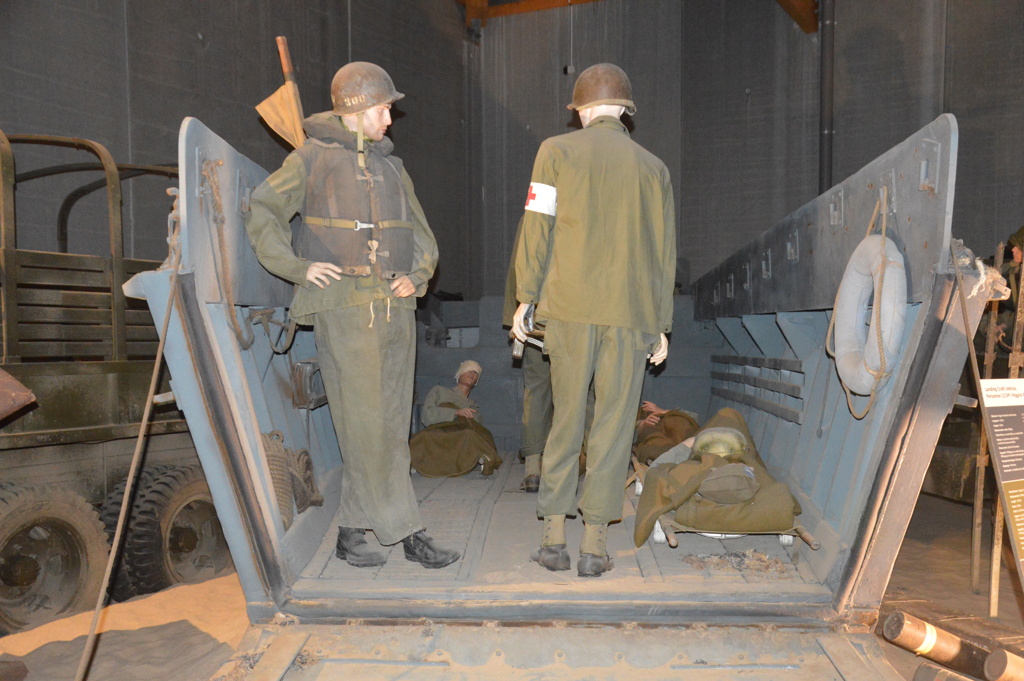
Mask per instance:
[[[598,577],[612,568],[607,527],[622,517],[644,365],[668,355],[675,206],[668,168],[620,121],[636,112],[622,69],[599,63],[584,71],[569,109],[584,129],[545,140],[534,164],[512,331],[525,339],[523,317],[537,304],[555,412],[538,496],[544,535],[531,559],[551,570],[570,567],[565,516],[578,508],[575,462],[594,382],[578,573]]]

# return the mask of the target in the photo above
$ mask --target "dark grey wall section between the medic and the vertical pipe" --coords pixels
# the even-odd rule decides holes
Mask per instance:
[[[683,7],[679,253],[696,279],[817,196],[818,41],[775,2]]]

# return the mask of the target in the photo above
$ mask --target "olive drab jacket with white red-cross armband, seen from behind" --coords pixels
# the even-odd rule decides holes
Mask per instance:
[[[539,317],[656,335],[672,331],[675,274],[665,164],[610,116],[546,139],[516,254],[519,302],[538,303]]]

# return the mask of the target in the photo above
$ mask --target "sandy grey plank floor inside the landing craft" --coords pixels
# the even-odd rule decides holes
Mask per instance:
[[[537,495],[519,490],[523,468],[514,454],[490,476],[478,471],[461,478],[425,478],[413,474],[427,534],[463,558],[449,567],[424,569],[404,559],[401,545],[382,547],[388,561],[377,568],[356,568],[334,556],[335,535],[324,538],[293,593],[299,597],[424,597],[430,594],[478,594],[492,598],[559,594],[604,600],[665,598],[702,602],[804,602],[822,604],[830,593],[817,583],[806,563],[793,557],[775,536],[719,540],[680,535],[679,547],[648,541],[633,546],[634,504],[627,491],[624,519],[609,527],[608,550],[614,568],[600,579],[575,573],[583,523],[570,518],[566,539],[572,569],[552,572],[529,560],[539,546],[543,523],[537,518]],[[372,533],[368,540],[375,545]],[[798,550],[806,551],[806,547]]]

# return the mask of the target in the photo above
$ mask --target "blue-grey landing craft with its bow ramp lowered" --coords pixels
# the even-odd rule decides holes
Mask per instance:
[[[956,147],[956,122],[941,116],[677,297],[669,364],[645,397],[701,419],[737,410],[799,501],[800,531],[680,531],[675,548],[637,548],[631,491],[609,531],[614,569],[586,581],[529,561],[536,497],[519,491],[513,456],[490,477],[414,474],[430,534],[462,551],[454,565],[424,570],[400,548],[374,569],[334,556],[344,452],[312,333],[300,327],[285,347],[291,287],[260,267],[244,230],[266,171],[186,119],[180,265],[139,273],[126,292],[169,317],[165,356],[254,624],[248,652],[271,650],[265,662],[284,661],[274,678],[285,679],[898,679],[872,627],[966,339],[998,280],[951,239]],[[884,243],[865,239],[883,223],[885,258],[902,266],[869,303],[870,275],[865,287],[844,272],[862,242]],[[841,284],[857,295],[834,313]],[[829,323],[842,317],[842,343],[870,353],[880,307],[889,376],[870,397],[855,385],[848,394]],[[481,399],[487,380],[517,380],[500,310],[496,298],[479,302]],[[452,351],[423,331],[418,385]],[[295,502],[308,493],[290,468],[297,453],[321,506]]]

